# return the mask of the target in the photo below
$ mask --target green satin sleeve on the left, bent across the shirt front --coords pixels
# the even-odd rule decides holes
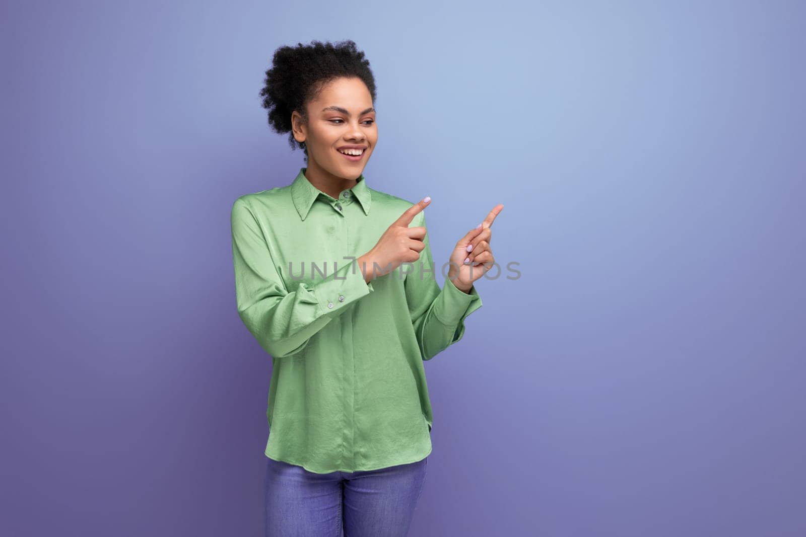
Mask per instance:
[[[232,205],[231,225],[238,314],[272,357],[299,353],[330,320],[374,291],[357,260],[345,259],[315,284],[301,283],[297,291],[289,292],[263,230],[242,198]]]

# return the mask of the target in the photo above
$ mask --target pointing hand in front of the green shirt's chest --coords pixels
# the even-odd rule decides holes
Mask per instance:
[[[406,209],[401,217],[384,231],[372,250],[358,258],[358,266],[367,283],[378,276],[392,272],[404,262],[419,260],[420,252],[426,247],[422,242],[426,237],[426,228],[422,225],[410,228],[409,224],[430,202],[430,196],[426,196]],[[375,266],[376,264],[378,266]]]

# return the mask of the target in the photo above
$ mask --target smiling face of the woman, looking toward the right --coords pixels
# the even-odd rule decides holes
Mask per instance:
[[[359,78],[330,81],[307,104],[308,125],[292,117],[294,138],[305,142],[309,167],[355,180],[363,172],[378,140],[372,95]],[[344,155],[351,152],[355,155]]]

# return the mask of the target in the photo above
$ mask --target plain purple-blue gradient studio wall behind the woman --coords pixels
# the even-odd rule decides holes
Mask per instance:
[[[411,535],[806,534],[804,3],[518,3],[3,2],[0,534],[261,535],[229,212],[311,39],[434,258],[503,203],[520,263],[426,366]]]

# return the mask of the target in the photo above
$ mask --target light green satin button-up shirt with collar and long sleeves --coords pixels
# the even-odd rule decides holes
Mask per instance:
[[[356,258],[413,204],[363,175],[337,200],[305,170],[231,213],[238,313],[272,356],[265,454],[315,473],[421,461],[433,423],[423,361],[462,339],[480,296],[447,278],[440,290],[427,233],[418,262],[365,282]]]

